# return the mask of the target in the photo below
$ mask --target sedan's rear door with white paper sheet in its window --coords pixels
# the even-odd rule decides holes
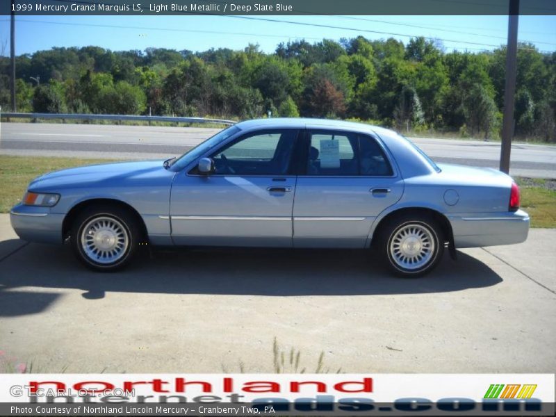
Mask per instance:
[[[364,247],[371,224],[398,202],[403,181],[370,134],[308,129],[293,206],[295,247]]]

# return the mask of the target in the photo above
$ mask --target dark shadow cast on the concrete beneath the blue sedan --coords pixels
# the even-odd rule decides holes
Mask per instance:
[[[441,293],[501,281],[489,266],[463,252],[457,261],[445,254],[434,272],[418,279],[391,276],[377,256],[364,250],[145,250],[126,270],[102,274],[76,261],[70,247],[31,244],[1,263],[0,305],[11,300],[15,311],[35,312],[56,300],[44,295],[37,303],[36,292],[8,295],[20,287],[75,288],[95,300],[107,292],[283,297]],[[0,316],[13,315],[6,308]]]

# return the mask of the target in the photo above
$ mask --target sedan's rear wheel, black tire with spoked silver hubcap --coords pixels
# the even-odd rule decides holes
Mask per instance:
[[[432,217],[400,215],[379,229],[377,249],[393,274],[404,278],[423,277],[441,261],[444,236]]]

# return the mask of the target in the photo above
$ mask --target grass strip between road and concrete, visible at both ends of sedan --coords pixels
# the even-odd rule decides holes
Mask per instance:
[[[31,179],[63,168],[108,162],[106,159],[51,158],[0,155],[0,213],[8,213],[23,197]],[[556,181],[518,178],[521,208],[531,215],[532,227],[556,227]]]

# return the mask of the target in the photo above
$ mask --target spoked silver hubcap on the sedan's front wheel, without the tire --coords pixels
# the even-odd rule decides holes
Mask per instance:
[[[129,236],[123,224],[110,217],[90,220],[81,232],[81,247],[97,263],[113,263],[126,253]]]

